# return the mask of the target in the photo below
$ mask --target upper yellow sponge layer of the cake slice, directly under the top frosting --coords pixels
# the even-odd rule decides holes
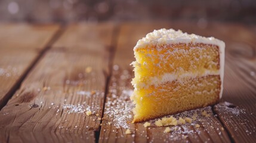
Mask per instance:
[[[219,49],[216,45],[204,43],[177,43],[136,49],[134,63],[135,85],[147,82],[149,77],[164,73],[204,73],[220,69]]]

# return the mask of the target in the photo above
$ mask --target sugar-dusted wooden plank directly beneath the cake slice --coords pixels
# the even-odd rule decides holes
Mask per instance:
[[[164,133],[166,127],[155,126],[155,120],[150,120],[151,125],[147,128],[144,128],[144,122],[131,124],[132,104],[129,95],[133,91],[130,82],[134,75],[129,63],[134,61],[132,48],[138,39],[152,32],[153,29],[171,26],[179,28],[179,24],[175,23],[130,23],[121,26],[104,109],[100,142],[230,142],[226,130],[213,115],[211,107],[196,110],[199,114],[197,120],[192,124],[177,126],[177,130],[171,127],[173,129],[171,133]],[[209,117],[201,116],[202,110],[207,110]],[[177,114],[175,117],[191,117],[193,113],[195,111]],[[201,127],[195,128],[195,124]],[[127,129],[132,133],[125,134]]]

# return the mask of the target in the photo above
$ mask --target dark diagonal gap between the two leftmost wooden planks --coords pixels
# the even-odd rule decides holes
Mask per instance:
[[[7,102],[11,99],[11,97],[13,97],[15,92],[20,88],[20,85],[23,82],[23,80],[27,77],[27,74],[29,74],[29,72],[33,69],[33,67],[35,67],[35,65],[38,63],[38,61],[43,57],[45,52],[47,52],[48,49],[51,48],[51,45],[53,45],[53,43],[55,41],[57,41],[57,39],[61,36],[61,34],[64,31],[64,27],[65,27],[64,25],[60,25],[60,27],[58,27],[58,30],[54,33],[53,36],[51,36],[50,41],[48,41],[46,43],[46,45],[43,46],[44,48],[42,48],[42,50],[38,53],[38,56],[35,58],[35,60],[32,61],[32,63],[29,65],[29,67],[27,67],[27,69],[20,76],[20,78],[17,80],[17,82],[14,83],[14,85],[10,89],[10,91],[7,92],[7,95],[2,99],[2,104],[0,104],[0,111],[7,104]]]

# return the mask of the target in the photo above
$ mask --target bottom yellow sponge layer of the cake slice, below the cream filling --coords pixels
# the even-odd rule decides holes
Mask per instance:
[[[215,104],[219,99],[220,86],[220,76],[205,76],[135,90],[132,97],[136,104],[133,122]]]

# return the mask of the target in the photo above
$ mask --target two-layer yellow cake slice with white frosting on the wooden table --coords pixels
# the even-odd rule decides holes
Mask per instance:
[[[133,122],[218,102],[225,43],[180,30],[154,30],[134,47]]]

